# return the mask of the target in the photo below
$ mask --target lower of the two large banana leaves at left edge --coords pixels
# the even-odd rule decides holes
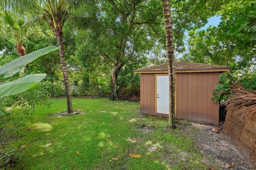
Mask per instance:
[[[31,74],[26,77],[13,80],[0,85],[0,97],[16,95],[30,88],[33,88],[39,81],[43,80],[46,74]]]

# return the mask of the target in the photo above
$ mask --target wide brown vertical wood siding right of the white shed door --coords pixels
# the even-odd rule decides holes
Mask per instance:
[[[218,72],[177,73],[176,117],[183,120],[219,123],[219,103],[211,100],[217,83]]]

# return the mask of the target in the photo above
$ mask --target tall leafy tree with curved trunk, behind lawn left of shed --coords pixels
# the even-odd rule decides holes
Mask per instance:
[[[143,14],[145,5],[148,5],[147,2],[141,0],[109,0],[96,6],[99,8],[101,25],[89,33],[89,43],[93,43],[97,54],[110,68],[110,100],[119,99],[124,80],[127,78],[120,76],[124,68],[133,66],[130,67],[133,74],[132,69],[144,60],[145,53],[155,43],[154,38],[147,37],[147,29],[140,21],[142,15],[148,19],[148,16]],[[152,14],[155,11],[150,12]],[[151,22],[150,20],[146,23]]]

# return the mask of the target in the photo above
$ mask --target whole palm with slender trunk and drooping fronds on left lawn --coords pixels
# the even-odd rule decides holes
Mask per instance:
[[[2,5],[13,10],[29,10],[33,14],[34,20],[28,22],[33,24],[36,21],[45,21],[52,29],[57,38],[60,55],[60,67],[62,70],[67,96],[67,112],[73,112],[70,84],[65,59],[65,47],[63,44],[63,27],[69,22],[75,29],[87,28],[94,23],[94,19],[85,16],[86,0],[9,0]],[[83,13],[82,13],[83,12]]]

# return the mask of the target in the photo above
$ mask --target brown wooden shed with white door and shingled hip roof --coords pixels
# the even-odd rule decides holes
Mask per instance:
[[[219,103],[211,100],[219,73],[227,66],[175,62],[175,117],[181,120],[219,123]],[[134,70],[140,74],[140,112],[169,116],[167,64]]]

